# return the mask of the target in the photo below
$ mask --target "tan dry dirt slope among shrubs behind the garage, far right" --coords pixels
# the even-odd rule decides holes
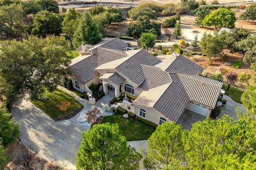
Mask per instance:
[[[235,53],[225,53],[228,58],[226,60],[223,60],[222,58],[212,58],[213,64],[208,65],[207,64],[207,57],[206,56],[199,56],[196,55],[194,57],[191,57],[190,60],[194,61],[195,63],[203,66],[205,68],[204,72],[214,74],[217,70],[220,68],[226,68],[231,69],[232,72],[235,72],[237,74],[246,72],[251,75],[251,79],[249,80],[250,83],[253,83],[253,75],[255,72],[250,69],[250,64],[244,64],[241,69],[235,69],[231,68],[230,66],[234,61],[242,61],[243,56],[241,54],[235,54]]]

